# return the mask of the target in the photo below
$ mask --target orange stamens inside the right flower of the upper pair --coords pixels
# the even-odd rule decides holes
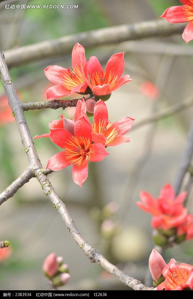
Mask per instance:
[[[117,75],[111,71],[106,76],[106,71],[103,70],[96,71],[93,74],[89,75],[88,81],[90,82],[90,87],[102,86],[103,84],[110,84],[110,89],[113,89],[115,82],[117,81]]]

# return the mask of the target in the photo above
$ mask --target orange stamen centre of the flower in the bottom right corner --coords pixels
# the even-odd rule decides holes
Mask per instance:
[[[188,274],[185,269],[175,268],[172,271],[168,271],[165,284],[174,289],[176,286],[183,285],[186,281]]]

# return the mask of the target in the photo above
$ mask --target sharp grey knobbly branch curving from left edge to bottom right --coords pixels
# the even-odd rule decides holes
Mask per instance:
[[[82,250],[86,253],[86,255],[92,263],[98,263],[100,266],[102,266],[102,268],[114,275],[117,279],[125,283],[127,286],[130,286],[134,290],[151,290],[152,288],[144,286],[140,281],[118,270],[117,267],[109,263],[97,249],[94,249],[82,237],[79,230],[76,228],[76,225],[74,224],[65,204],[62,202],[62,200],[52,187],[48,177],[43,173],[44,171],[42,171],[42,165],[34,147],[32,137],[30,135],[30,131],[24,117],[21,102],[16,94],[16,90],[13,86],[7,65],[4,61],[4,56],[1,51],[0,75],[8,101],[16,118],[16,123],[22,138],[24,150],[27,153],[27,157],[29,159],[30,169],[33,171],[33,174],[36,176],[37,180],[41,184],[41,187],[45,195],[49,197],[50,201],[53,204],[53,207],[56,208],[56,210],[61,215],[62,219],[65,222],[65,225],[67,226],[68,231],[71,233],[77,245],[79,245],[79,247],[82,248]]]

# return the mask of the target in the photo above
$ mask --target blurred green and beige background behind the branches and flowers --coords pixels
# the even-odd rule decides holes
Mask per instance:
[[[178,0],[60,0],[14,1],[13,4],[78,4],[78,9],[4,9],[0,7],[0,46],[3,51],[60,36],[112,25],[157,20]],[[49,2],[49,3],[48,3]],[[75,43],[78,40],[75,41]],[[134,45],[134,50],[129,45]],[[153,53],[162,45],[164,50]],[[112,122],[130,116],[136,123],[167,106],[180,103],[192,94],[192,56],[168,55],[167,46],[185,45],[180,35],[126,41],[85,49],[102,65],[117,52],[125,51],[125,72],[132,82],[114,91],[107,102]],[[141,48],[145,47],[144,53]],[[148,53],[147,46],[151,51]],[[140,51],[139,51],[140,50]],[[5,57],[6,58],[6,57]],[[45,90],[52,83],[44,75],[48,65],[71,66],[71,55],[63,55],[10,69],[14,85],[23,102],[46,100]],[[144,91],[144,82],[153,83],[158,94]],[[2,86],[1,96],[4,95]],[[73,94],[68,98],[77,98]],[[4,108],[0,106],[1,112]],[[6,112],[7,113],[7,112]],[[32,136],[49,132],[48,123],[64,113],[72,118],[74,109],[25,112]],[[5,112],[4,114],[5,115]],[[83,187],[72,180],[71,167],[49,176],[53,187],[67,205],[76,226],[89,244],[98,248],[111,263],[139,280],[144,279],[148,257],[153,248],[151,216],[138,210],[135,202],[145,190],[158,196],[161,187],[174,179],[192,117],[192,108],[174,116],[131,129],[131,143],[108,148],[104,161],[89,164],[89,176]],[[28,166],[27,156],[16,124],[0,114],[1,190],[11,184]],[[43,167],[60,149],[49,138],[34,141]],[[111,203],[112,202],[112,203]],[[191,196],[188,204],[191,210]],[[76,246],[59,214],[52,208],[36,179],[31,179],[13,198],[1,206],[0,239],[8,239],[12,254],[0,262],[0,289],[49,290],[41,267],[45,257],[55,251],[64,257],[71,280],[64,289],[124,289],[122,283],[98,265],[89,263]],[[193,263],[192,241],[166,250],[165,257]]]

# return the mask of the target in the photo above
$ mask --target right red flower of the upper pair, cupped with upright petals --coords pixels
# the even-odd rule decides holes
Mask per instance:
[[[108,60],[105,71],[103,71],[97,57],[92,56],[85,68],[85,79],[88,86],[99,99],[101,96],[110,95],[123,84],[131,81],[129,75],[121,77],[125,61],[123,53],[117,53]]]

